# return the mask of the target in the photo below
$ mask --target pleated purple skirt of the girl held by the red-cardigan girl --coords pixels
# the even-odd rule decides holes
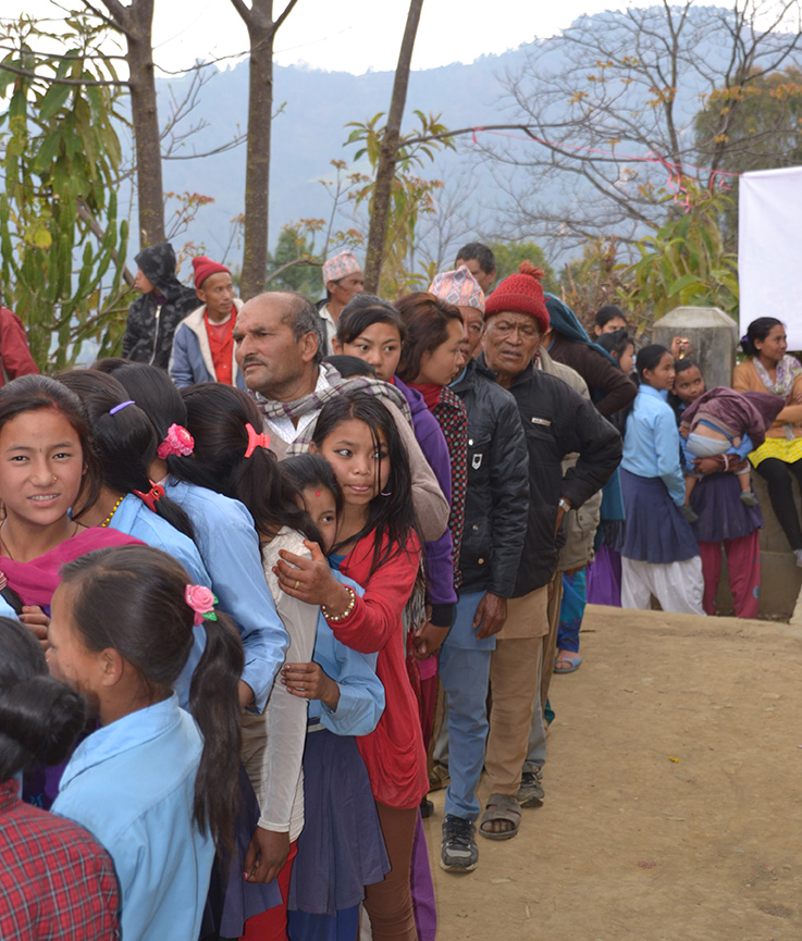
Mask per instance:
[[[368,771],[351,735],[308,732],[304,750],[304,829],[289,880],[291,911],[334,915],[381,882],[390,859]]]

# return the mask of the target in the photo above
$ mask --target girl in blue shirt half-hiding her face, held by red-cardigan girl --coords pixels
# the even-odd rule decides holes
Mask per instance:
[[[286,458],[280,468],[297,487],[328,553],[343,504],[329,462],[303,455]],[[363,594],[361,585],[332,571],[337,581]],[[287,936],[291,941],[355,941],[363,887],[381,882],[390,870],[355,738],[375,729],[384,711],[384,688],[375,674],[377,654],[360,654],[340,643],[322,614],[312,661],[282,669],[289,692],[309,699],[305,826],[289,883]]]

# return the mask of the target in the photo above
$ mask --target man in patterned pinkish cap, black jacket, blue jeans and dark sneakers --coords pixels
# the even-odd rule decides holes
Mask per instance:
[[[495,635],[515,591],[529,504],[527,442],[513,396],[473,359],[481,342],[484,295],[467,268],[439,274],[432,294],[455,304],[464,323],[467,364],[453,383],[468,414],[468,488],[459,556],[462,583],[457,612],[440,652],[448,707],[448,769],[441,865],[469,872],[479,853],[477,785],[488,738],[488,685]]]

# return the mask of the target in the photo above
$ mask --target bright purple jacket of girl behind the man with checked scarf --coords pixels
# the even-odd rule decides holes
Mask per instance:
[[[434,476],[437,479],[443,495],[451,505],[452,502],[452,461],[448,457],[448,445],[445,443],[443,432],[437,424],[437,419],[429,411],[423,396],[415,388],[405,385],[397,375],[393,376],[395,387],[409,404],[412,413],[412,430],[420,445],[423,457],[429,461]],[[427,602],[436,605],[455,605],[457,593],[454,590],[454,564],[452,532],[448,528],[443,535],[433,543],[424,543],[423,565],[427,574]],[[439,617],[445,612],[432,611],[432,623],[446,627],[445,618]],[[453,617],[449,611],[446,617]],[[451,620],[447,620],[451,624]]]

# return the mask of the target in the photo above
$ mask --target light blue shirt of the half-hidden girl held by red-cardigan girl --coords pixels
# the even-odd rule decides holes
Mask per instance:
[[[343,557],[344,558],[344,557]],[[334,578],[361,597],[365,589],[333,570]],[[340,686],[340,702],[332,711],[320,699],[309,701],[309,721],[321,722],[335,735],[368,735],[384,711],[384,686],[375,674],[378,654],[360,654],[342,644],[321,614],[312,659]]]

